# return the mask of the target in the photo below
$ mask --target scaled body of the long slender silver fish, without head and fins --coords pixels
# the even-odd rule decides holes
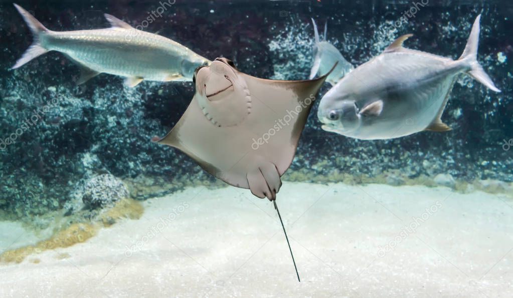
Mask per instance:
[[[92,31],[92,32],[91,32]],[[165,80],[170,70],[179,74],[186,50],[169,47],[169,40],[141,32],[130,42],[128,29],[101,29],[88,32],[55,32],[44,36],[49,50],[66,53],[73,60],[99,72]],[[158,36],[158,35],[155,35]],[[128,63],[127,63],[128,62]]]

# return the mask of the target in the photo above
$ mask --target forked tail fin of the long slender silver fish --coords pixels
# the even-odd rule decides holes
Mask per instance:
[[[34,42],[32,45],[25,51],[23,56],[16,61],[16,64],[11,69],[16,69],[21,67],[28,61],[34,59],[37,56],[40,56],[46,52],[47,49],[43,48],[40,41],[40,35],[45,32],[49,32],[43,24],[41,24],[35,17],[33,17],[28,11],[23,9],[21,6],[14,3],[14,7],[18,10],[19,14],[22,15],[23,19],[27,23],[34,36]]]

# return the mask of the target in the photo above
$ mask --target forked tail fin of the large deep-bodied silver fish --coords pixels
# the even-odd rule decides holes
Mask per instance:
[[[497,88],[488,74],[484,71],[483,67],[478,62],[478,44],[479,44],[479,32],[480,26],[479,22],[481,20],[481,15],[476,17],[474,21],[474,25],[472,25],[472,31],[470,32],[470,36],[467,40],[467,45],[465,46],[465,50],[463,54],[459,58],[459,60],[465,60],[470,64],[470,71],[468,74],[480,81],[484,86],[495,92],[501,92],[499,88]]]

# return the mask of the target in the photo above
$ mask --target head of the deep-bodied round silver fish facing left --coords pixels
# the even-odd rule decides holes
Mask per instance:
[[[321,99],[317,117],[323,123],[322,129],[329,132],[348,133],[358,129],[361,124],[356,101],[340,98],[329,91]]]

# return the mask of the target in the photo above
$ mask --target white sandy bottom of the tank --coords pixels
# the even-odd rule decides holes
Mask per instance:
[[[86,243],[0,265],[0,297],[513,293],[513,201],[504,195],[285,182],[277,202],[301,283],[269,201],[196,187],[146,201],[142,219]]]

